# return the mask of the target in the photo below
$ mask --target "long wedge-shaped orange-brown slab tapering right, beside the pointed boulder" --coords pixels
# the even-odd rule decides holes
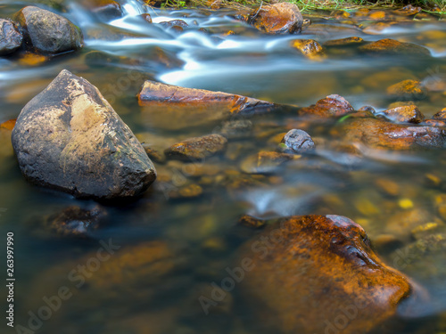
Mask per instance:
[[[185,88],[147,80],[137,95],[150,126],[179,129],[216,122],[239,114],[249,117],[279,110],[272,102],[250,97]]]

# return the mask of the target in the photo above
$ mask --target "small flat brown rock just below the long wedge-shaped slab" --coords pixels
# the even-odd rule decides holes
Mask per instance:
[[[220,134],[186,139],[169,147],[164,153],[169,159],[198,160],[225,151],[227,139]]]

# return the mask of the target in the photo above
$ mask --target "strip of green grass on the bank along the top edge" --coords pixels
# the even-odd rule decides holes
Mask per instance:
[[[261,0],[164,0],[162,7],[243,7],[267,4],[269,1]],[[310,10],[334,10],[357,8],[400,8],[407,4],[420,6],[425,12],[446,13],[446,0],[288,0],[297,4],[302,12]]]

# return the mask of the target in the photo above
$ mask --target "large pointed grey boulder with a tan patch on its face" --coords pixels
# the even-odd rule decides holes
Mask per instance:
[[[12,146],[31,183],[79,198],[136,196],[156,178],[141,143],[103,95],[68,70],[21,110]]]

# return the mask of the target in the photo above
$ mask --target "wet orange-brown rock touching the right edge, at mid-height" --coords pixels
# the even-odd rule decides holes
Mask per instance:
[[[375,149],[434,149],[446,144],[446,132],[441,128],[393,124],[377,118],[347,119],[332,133],[341,135],[348,143],[363,143]]]

